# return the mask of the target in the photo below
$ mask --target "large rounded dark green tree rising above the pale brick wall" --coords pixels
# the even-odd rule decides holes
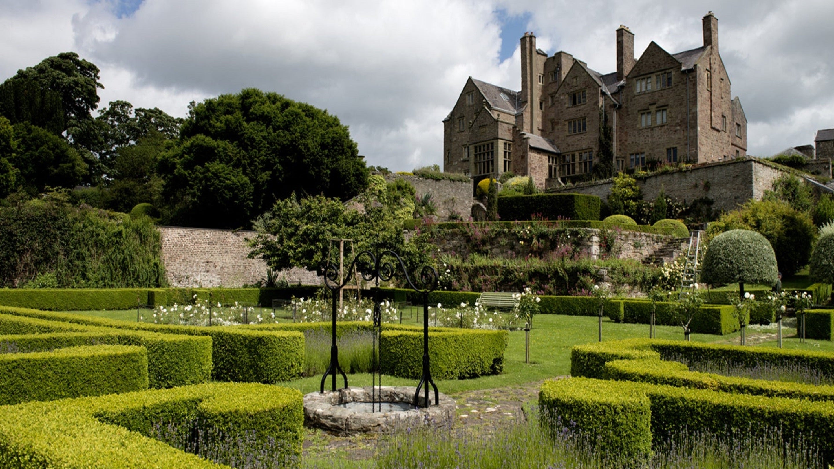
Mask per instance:
[[[290,194],[349,199],[368,169],[324,110],[248,88],[193,104],[159,164],[165,221],[238,228]]]

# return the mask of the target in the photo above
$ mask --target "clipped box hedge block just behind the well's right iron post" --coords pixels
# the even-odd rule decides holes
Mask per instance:
[[[435,380],[496,375],[504,368],[506,330],[431,328],[429,366]],[[379,335],[379,362],[384,375],[420,379],[423,330],[385,325]]]

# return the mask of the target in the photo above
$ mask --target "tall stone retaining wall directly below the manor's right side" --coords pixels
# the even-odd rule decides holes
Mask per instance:
[[[761,199],[765,190],[771,189],[773,181],[782,172],[755,159],[739,159],[705,164],[692,169],[652,174],[637,179],[643,189],[643,198],[652,200],[661,189],[673,199],[691,203],[695,199],[708,197],[715,203],[712,209],[732,210],[749,199]],[[598,195],[607,199],[611,181],[576,184],[552,189],[553,192],[575,192]]]

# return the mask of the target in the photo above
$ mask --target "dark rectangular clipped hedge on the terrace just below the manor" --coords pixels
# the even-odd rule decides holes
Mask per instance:
[[[600,219],[600,198],[589,194],[507,195],[498,198],[498,216],[503,220]]]

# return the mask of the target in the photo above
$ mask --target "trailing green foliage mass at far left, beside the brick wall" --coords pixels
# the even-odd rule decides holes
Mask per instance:
[[[62,194],[0,207],[0,287],[157,287],[166,283],[153,221],[73,207]],[[57,284],[57,285],[56,285]]]

